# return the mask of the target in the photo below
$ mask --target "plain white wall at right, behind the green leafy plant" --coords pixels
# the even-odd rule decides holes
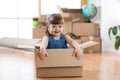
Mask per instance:
[[[114,40],[108,37],[108,28],[120,25],[120,0],[102,0],[101,4],[102,51],[114,52]]]

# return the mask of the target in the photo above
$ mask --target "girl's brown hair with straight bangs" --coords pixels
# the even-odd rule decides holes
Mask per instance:
[[[52,36],[49,31],[48,31],[48,25],[49,24],[63,24],[64,20],[60,14],[51,14],[48,19],[46,20],[46,35],[47,36]]]

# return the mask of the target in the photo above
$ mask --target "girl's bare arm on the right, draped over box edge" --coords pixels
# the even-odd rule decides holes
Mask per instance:
[[[73,56],[75,56],[79,60],[82,54],[82,49],[80,48],[79,44],[70,36],[66,35],[65,37],[68,44],[74,48]]]

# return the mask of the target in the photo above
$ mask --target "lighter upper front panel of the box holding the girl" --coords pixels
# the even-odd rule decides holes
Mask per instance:
[[[37,67],[80,67],[83,65],[83,56],[77,60],[73,54],[73,49],[48,49],[48,57],[41,61],[39,56],[37,57]],[[38,53],[36,53],[38,55]]]

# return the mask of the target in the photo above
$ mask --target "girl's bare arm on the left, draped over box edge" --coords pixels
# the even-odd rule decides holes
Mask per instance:
[[[40,45],[39,57],[40,57],[41,60],[44,60],[45,57],[48,56],[48,54],[46,52],[47,45],[48,45],[48,37],[45,36],[45,37],[43,37],[41,45]]]

